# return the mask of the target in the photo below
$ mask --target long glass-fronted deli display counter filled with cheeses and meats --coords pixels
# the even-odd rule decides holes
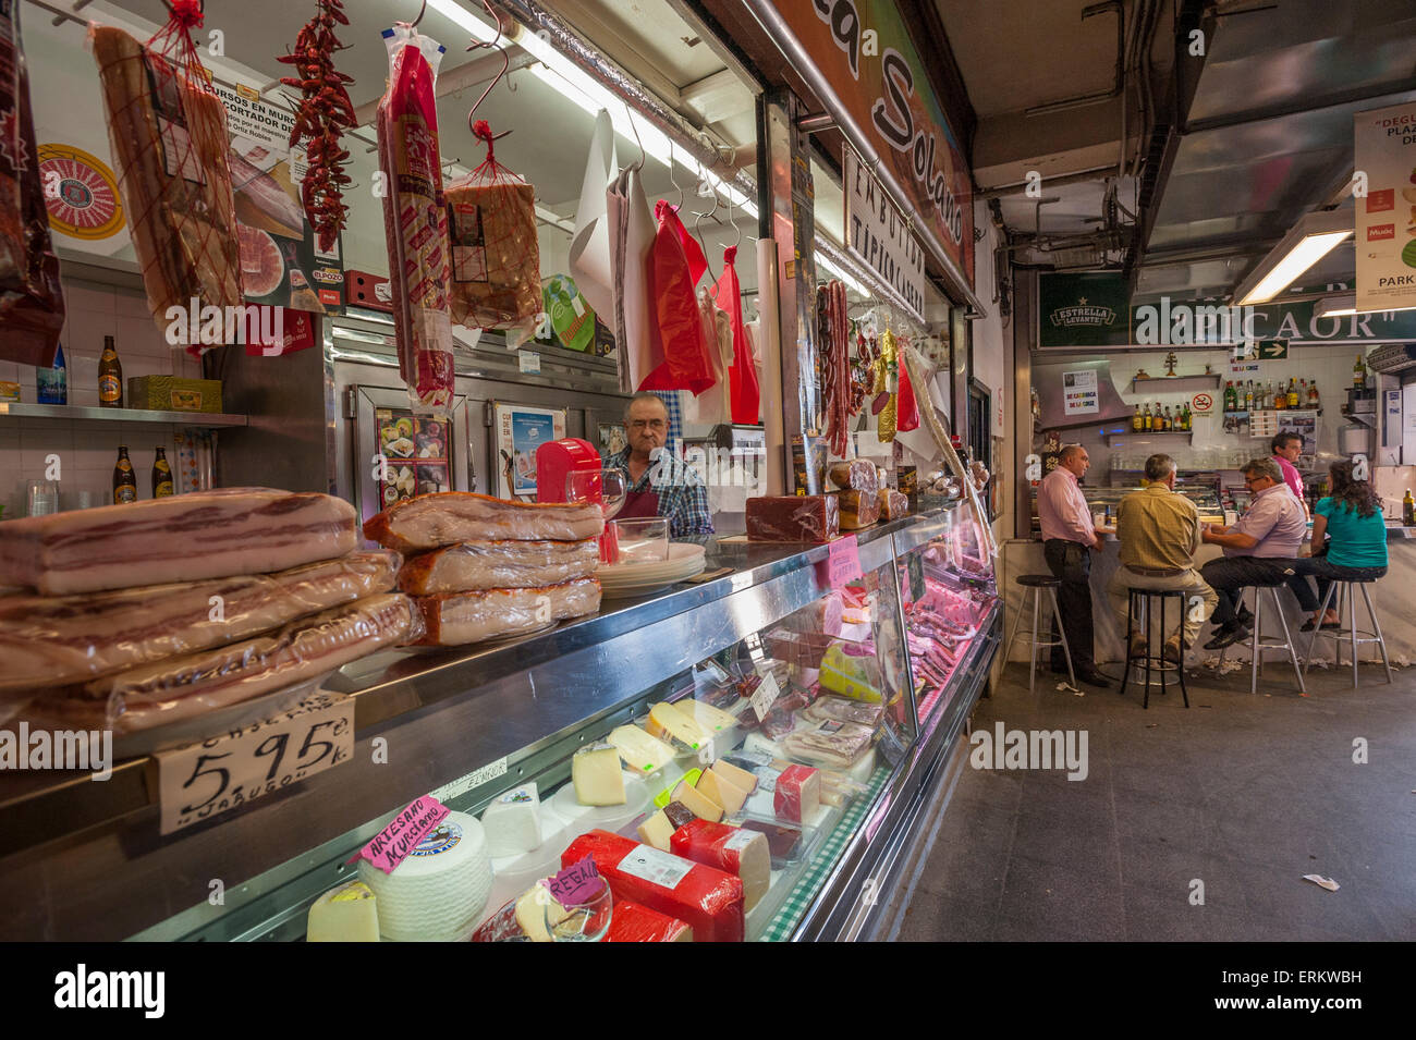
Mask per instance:
[[[354,880],[385,938],[685,937],[664,920],[715,941],[865,934],[861,893],[891,883],[947,750],[942,706],[966,712],[997,651],[991,560],[960,516],[830,546],[718,538],[708,566],[732,573],[716,580],[500,645],[364,658],[324,682],[353,703],[346,761],[174,833],[159,829],[160,756],[105,784],[6,787],[0,935],[299,941]],[[964,614],[952,671],[918,634],[910,658],[906,617],[933,638]],[[351,865],[428,795],[450,814],[412,883]],[[518,915],[586,856],[613,906]]]

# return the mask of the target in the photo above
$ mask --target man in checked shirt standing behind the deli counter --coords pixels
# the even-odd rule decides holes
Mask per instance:
[[[667,516],[670,538],[711,535],[708,488],[678,456],[664,450],[668,409],[653,393],[636,393],[624,409],[629,447],[606,456],[606,468],[623,470],[629,494],[616,519]]]

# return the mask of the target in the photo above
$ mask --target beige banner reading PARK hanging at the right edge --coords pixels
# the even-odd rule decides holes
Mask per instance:
[[[1358,112],[1357,308],[1416,307],[1416,102]]]

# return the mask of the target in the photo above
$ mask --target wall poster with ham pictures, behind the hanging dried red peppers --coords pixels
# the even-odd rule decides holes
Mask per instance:
[[[323,314],[344,301],[340,241],[321,252],[304,216],[304,149],[290,149],[295,115],[246,86],[212,83],[227,106],[231,190],[241,233],[241,277],[251,303]]]

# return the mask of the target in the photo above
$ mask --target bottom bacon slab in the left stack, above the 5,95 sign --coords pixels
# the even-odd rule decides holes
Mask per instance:
[[[35,699],[34,724],[137,733],[319,679],[385,647],[416,640],[413,601],[384,593],[292,621],[276,632],[167,658]]]

